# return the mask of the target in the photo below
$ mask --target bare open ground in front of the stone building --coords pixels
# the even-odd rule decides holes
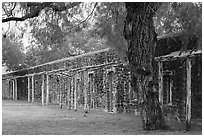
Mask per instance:
[[[201,134],[201,129],[143,131],[139,116],[110,114],[103,110],[90,110],[84,117],[78,111],[60,109],[58,105],[41,106],[25,101],[2,102],[3,135],[138,135],[138,134]]]

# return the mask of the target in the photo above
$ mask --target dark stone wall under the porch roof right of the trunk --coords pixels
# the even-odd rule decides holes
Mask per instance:
[[[197,55],[191,57],[191,106],[192,118],[202,117],[202,57]],[[173,72],[172,75],[164,75],[164,104],[168,107],[174,107],[178,111],[180,118],[186,116],[186,61],[178,59],[174,61],[164,62],[164,72]],[[168,103],[167,90],[169,88],[168,79],[172,81],[172,103]]]

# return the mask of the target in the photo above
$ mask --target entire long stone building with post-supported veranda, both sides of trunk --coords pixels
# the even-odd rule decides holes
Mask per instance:
[[[196,38],[183,45],[180,37],[182,34],[158,38],[156,88],[162,106],[175,108],[189,123],[191,117],[202,118],[202,50]],[[111,49],[64,58],[4,74],[2,96],[73,110],[135,113],[137,97],[131,89],[128,65]]]

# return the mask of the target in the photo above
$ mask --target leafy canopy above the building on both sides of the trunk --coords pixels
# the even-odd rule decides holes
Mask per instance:
[[[15,42],[28,39],[22,55],[27,67],[106,47],[116,49],[122,58],[126,56],[124,3],[4,2],[2,11],[7,38]],[[183,31],[183,41],[196,36],[202,43],[202,3],[163,3],[154,25],[158,36]],[[13,43],[15,46],[18,49],[19,44]],[[4,63],[14,57],[3,56],[10,56],[4,57]]]

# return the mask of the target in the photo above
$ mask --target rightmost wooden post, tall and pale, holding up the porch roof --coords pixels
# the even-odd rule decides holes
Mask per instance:
[[[187,100],[186,100],[186,130],[189,131],[191,127],[191,60],[186,59],[187,69]]]

